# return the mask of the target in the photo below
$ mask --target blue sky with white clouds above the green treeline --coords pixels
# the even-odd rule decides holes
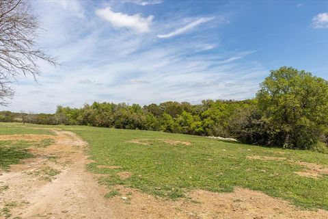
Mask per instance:
[[[327,1],[32,2],[61,66],[39,62],[1,110],[247,99],[280,66],[328,79]]]

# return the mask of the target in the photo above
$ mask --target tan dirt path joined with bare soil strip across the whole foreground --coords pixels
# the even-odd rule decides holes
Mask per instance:
[[[109,191],[85,170],[87,144],[70,131],[57,136],[13,135],[0,140],[42,140],[55,143],[31,148],[36,157],[0,172],[0,218],[328,218],[328,211],[299,209],[288,201],[252,190],[231,193],[191,191],[190,199],[169,201],[138,190],[116,186]],[[0,170],[1,171],[1,170]],[[128,176],[127,176],[128,177]]]

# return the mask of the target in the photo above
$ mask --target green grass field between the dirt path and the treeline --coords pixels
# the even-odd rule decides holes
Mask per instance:
[[[0,134],[3,130],[5,133],[27,131],[27,127],[44,126],[1,127]],[[106,174],[100,182],[110,190],[113,185],[124,185],[157,196],[179,198],[184,197],[188,190],[231,192],[238,186],[284,198],[301,207],[328,209],[328,175],[313,179],[295,174],[307,170],[295,162],[327,166],[327,154],[155,131],[58,128],[73,131],[90,144],[88,153],[94,162],[87,168],[94,173]],[[171,145],[163,140],[190,142],[190,145]],[[247,158],[254,156],[284,158]],[[100,165],[120,168],[100,168]],[[131,177],[120,179],[118,173],[122,171],[130,172]]]

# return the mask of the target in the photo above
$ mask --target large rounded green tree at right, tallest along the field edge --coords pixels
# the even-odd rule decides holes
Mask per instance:
[[[270,124],[273,144],[327,148],[328,81],[304,70],[282,67],[272,70],[260,87],[258,106]]]

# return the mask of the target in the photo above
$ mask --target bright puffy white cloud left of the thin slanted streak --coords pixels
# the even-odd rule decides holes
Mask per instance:
[[[113,12],[109,7],[96,10],[96,14],[109,21],[114,27],[126,27],[139,33],[149,32],[149,26],[154,18],[152,15],[143,18],[141,14],[128,15],[121,12]]]

